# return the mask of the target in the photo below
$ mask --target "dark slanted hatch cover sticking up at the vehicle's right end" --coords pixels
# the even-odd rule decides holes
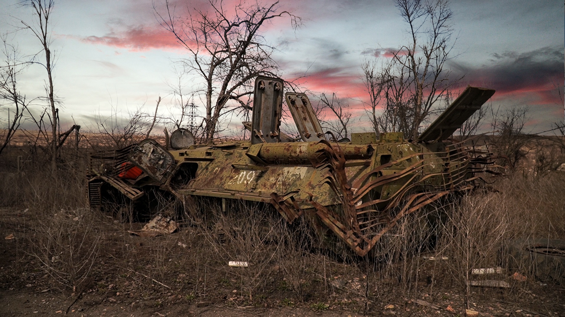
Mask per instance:
[[[494,89],[467,86],[467,89],[418,137],[418,141],[445,140],[494,95]]]

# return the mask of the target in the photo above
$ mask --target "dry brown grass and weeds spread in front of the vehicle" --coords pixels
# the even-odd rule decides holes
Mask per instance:
[[[21,220],[28,243],[19,244],[19,261],[33,261],[24,270],[45,272],[42,279],[33,275],[37,283],[57,284],[63,293],[153,306],[212,301],[360,311],[422,294],[441,301],[449,293],[454,306],[469,307],[481,299],[524,298],[518,290],[537,287],[506,271],[495,278],[509,281],[510,289],[475,292],[468,286],[477,278],[472,268],[505,267],[503,246],[511,240],[565,236],[565,177],[554,172],[497,178],[455,202],[412,214],[375,246],[371,259],[320,248],[306,219],[290,226],[268,205],[235,200],[228,200],[226,212],[220,200],[197,200],[198,223],[142,238],[127,234],[141,223],[85,208],[84,165],[73,164],[52,175],[34,162],[0,179],[2,206],[28,209]],[[8,232],[5,222],[1,227]],[[249,267],[228,267],[228,261]]]

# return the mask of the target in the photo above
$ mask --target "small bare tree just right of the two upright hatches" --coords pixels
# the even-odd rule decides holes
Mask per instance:
[[[331,131],[337,140],[347,138],[347,135],[349,135],[347,127],[349,126],[349,121],[351,121],[351,112],[346,111],[344,108],[347,108],[347,105],[341,102],[335,93],[332,94],[331,100],[325,94],[320,95],[320,104],[318,105],[318,113],[316,115],[319,116],[321,113],[327,112],[324,109],[329,109],[336,116],[335,119],[321,121],[324,128]]]

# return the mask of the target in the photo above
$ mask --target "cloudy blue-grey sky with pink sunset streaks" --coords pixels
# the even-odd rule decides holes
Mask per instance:
[[[209,7],[202,0],[172,4]],[[55,1],[51,51],[63,124],[76,122],[92,129],[97,116],[117,112],[127,117],[139,108],[150,112],[158,96],[163,98],[163,115],[177,113],[170,85],[178,80],[176,61],[188,55],[159,25],[155,10],[164,12],[163,6],[164,0]],[[288,19],[279,19],[261,33],[276,48],[273,59],[282,77],[300,78],[313,93],[336,93],[354,114],[353,131],[366,130],[363,102],[368,95],[360,66],[408,39],[394,2],[281,0],[280,8],[302,18],[297,29]],[[453,0],[450,8],[456,40],[447,67],[463,77],[459,86],[496,89],[494,107],[528,107],[527,133],[562,122],[558,89],[563,91],[565,78],[563,2]],[[20,0],[0,0],[0,33],[9,33],[21,54],[36,54],[41,47],[31,33],[13,32],[21,27],[20,20],[32,21],[30,8]],[[45,95],[45,80],[45,69],[32,65],[21,74],[20,89],[28,98]],[[182,83],[184,91],[190,91],[198,86],[198,78],[186,76]],[[239,121],[233,118],[231,127],[240,126]]]

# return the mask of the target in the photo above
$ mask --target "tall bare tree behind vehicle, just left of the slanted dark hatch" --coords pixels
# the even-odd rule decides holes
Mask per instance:
[[[402,131],[415,139],[421,125],[457,81],[450,80],[450,71],[445,68],[454,45],[450,24],[453,13],[449,0],[396,0],[396,6],[408,25],[410,41],[389,51],[392,59],[379,74],[374,64],[364,65],[363,70],[371,102],[384,101],[382,115],[373,121],[379,121],[383,130]]]

